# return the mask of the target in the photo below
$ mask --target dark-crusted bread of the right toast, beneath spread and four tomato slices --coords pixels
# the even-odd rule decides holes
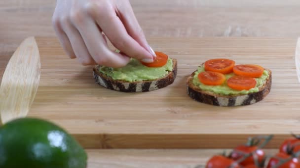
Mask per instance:
[[[200,66],[204,66],[203,64]],[[211,91],[201,90],[198,86],[192,83],[194,71],[189,77],[187,82],[187,92],[189,97],[192,99],[214,106],[245,106],[257,103],[270,92],[272,84],[272,73],[271,70],[265,69],[269,73],[269,77],[266,79],[265,84],[259,88],[258,92],[249,94],[235,94],[235,95],[221,95]]]

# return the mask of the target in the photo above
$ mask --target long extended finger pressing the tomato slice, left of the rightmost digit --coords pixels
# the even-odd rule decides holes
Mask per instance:
[[[112,5],[95,3],[89,6],[88,14],[96,20],[97,24],[112,42],[112,45],[118,50],[127,56],[143,60],[144,62],[153,61],[153,56],[150,52],[127,33]]]

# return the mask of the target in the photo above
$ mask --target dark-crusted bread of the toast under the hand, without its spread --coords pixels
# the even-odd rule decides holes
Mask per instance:
[[[177,75],[177,60],[172,59],[172,61],[173,61],[172,71],[170,71],[165,77],[156,80],[141,81],[141,82],[126,82],[121,80],[113,80],[111,77],[99,71],[101,65],[96,65],[93,68],[94,79],[97,84],[100,84],[103,87],[116,90],[116,91],[122,91],[122,92],[153,91],[153,90],[166,87],[170,84],[173,84]]]

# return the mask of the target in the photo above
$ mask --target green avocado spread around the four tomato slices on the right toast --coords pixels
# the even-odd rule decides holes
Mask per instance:
[[[264,70],[263,75],[260,78],[256,78],[256,81],[257,81],[256,87],[251,88],[250,90],[241,90],[240,91],[240,90],[234,90],[234,89],[227,86],[227,83],[226,83],[227,79],[234,76],[234,73],[225,75],[226,81],[225,81],[224,84],[218,85],[218,86],[210,86],[210,85],[202,84],[198,79],[198,74],[201,73],[201,72],[204,72],[204,71],[205,71],[204,67],[198,67],[198,70],[195,72],[195,75],[193,77],[193,81],[192,81],[193,84],[198,86],[202,90],[212,91],[214,93],[223,94],[223,95],[248,94],[248,93],[258,92],[259,88],[261,86],[263,86],[263,84],[265,84],[266,79],[269,76],[268,71]]]

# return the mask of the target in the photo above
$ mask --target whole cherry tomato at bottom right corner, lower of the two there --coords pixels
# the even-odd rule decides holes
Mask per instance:
[[[270,158],[267,168],[300,168],[300,162],[298,158],[291,158],[288,162],[277,167],[280,161],[278,159],[285,160],[290,157],[291,156],[286,153],[277,153],[275,157]]]

